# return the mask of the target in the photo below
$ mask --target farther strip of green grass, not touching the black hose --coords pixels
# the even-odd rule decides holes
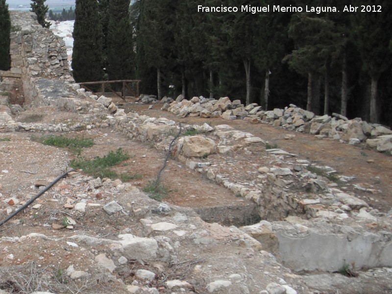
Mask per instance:
[[[69,148],[71,151],[80,154],[82,148],[92,147],[94,145],[94,140],[91,138],[68,138],[65,136],[49,136],[49,137],[36,137],[31,136],[31,140],[35,142],[40,142],[44,145]]]

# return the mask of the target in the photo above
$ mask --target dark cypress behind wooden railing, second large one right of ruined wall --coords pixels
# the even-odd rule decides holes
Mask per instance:
[[[134,77],[130,0],[109,0],[106,35],[106,70],[110,80]]]

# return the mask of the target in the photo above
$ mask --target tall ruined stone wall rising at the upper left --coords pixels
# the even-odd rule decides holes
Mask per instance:
[[[50,29],[39,25],[33,12],[11,11],[10,17],[11,69],[3,73],[20,74],[25,102],[36,103],[38,78],[72,79],[65,43]],[[5,78],[1,85],[10,90],[18,82]]]

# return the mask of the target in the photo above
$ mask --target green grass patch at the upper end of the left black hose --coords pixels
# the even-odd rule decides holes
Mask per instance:
[[[129,155],[124,153],[122,148],[118,148],[116,152],[110,151],[107,155],[95,157],[93,160],[78,157],[71,161],[71,167],[74,169],[81,169],[83,172],[95,177],[117,179],[122,175],[112,171],[110,168],[127,159],[129,159]],[[123,178],[125,177],[126,175],[123,175]]]

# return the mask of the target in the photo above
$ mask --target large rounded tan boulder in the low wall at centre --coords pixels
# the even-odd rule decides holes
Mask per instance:
[[[209,138],[196,135],[185,137],[182,154],[186,157],[203,157],[215,153],[217,145]]]

